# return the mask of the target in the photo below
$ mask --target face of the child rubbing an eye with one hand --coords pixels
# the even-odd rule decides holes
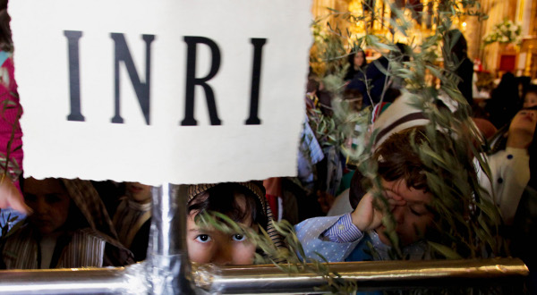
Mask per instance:
[[[389,198],[399,196],[405,200],[401,206],[394,206],[391,210],[396,219],[396,232],[402,246],[421,240],[427,227],[432,223],[433,215],[427,205],[430,204],[432,194],[423,190],[407,188],[405,181],[384,181],[382,185]],[[386,228],[382,225],[377,232],[380,240],[390,245],[388,237],[383,233]]]

